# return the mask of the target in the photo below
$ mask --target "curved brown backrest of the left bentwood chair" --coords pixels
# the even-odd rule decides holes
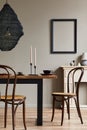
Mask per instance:
[[[6,65],[0,65],[0,76],[1,80],[5,80],[5,100],[7,99],[7,96],[9,94],[9,86],[10,86],[10,80],[13,80],[10,87],[10,95],[12,95],[12,100],[14,100],[15,96],[15,89],[16,89],[16,72],[11,68],[10,66]],[[13,77],[13,79],[11,78]]]

